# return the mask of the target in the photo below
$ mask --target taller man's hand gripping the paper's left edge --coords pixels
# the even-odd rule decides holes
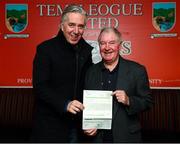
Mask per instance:
[[[80,112],[83,109],[83,104],[77,100],[70,101],[67,105],[67,111],[72,114],[77,114],[77,112]]]

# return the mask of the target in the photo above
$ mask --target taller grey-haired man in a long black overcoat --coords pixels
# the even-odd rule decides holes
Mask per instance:
[[[85,72],[92,64],[92,47],[82,38],[86,19],[80,6],[66,7],[58,35],[37,47],[32,142],[79,142],[82,88]]]

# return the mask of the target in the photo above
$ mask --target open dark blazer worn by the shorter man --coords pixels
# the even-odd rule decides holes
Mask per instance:
[[[87,72],[85,89],[102,90],[102,65],[100,62],[93,65]],[[140,123],[138,114],[151,107],[152,98],[149,81],[144,66],[123,59],[119,59],[116,90],[125,90],[129,96],[130,106],[118,103],[114,98],[112,131],[114,142],[140,142]],[[101,130],[95,137],[95,142],[101,142]]]

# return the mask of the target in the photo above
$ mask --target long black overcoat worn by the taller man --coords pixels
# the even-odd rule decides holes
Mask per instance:
[[[82,101],[91,50],[84,39],[72,46],[61,31],[38,45],[33,62],[36,112],[32,142],[68,142],[69,127],[80,122],[66,112],[66,106],[73,99]]]

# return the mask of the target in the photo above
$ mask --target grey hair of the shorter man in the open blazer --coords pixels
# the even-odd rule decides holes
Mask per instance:
[[[99,36],[98,36],[98,42],[100,43],[100,40],[101,40],[101,36],[102,36],[102,33],[104,33],[104,32],[113,32],[116,36],[117,36],[117,38],[118,38],[118,42],[121,44],[122,43],[122,34],[121,34],[121,32],[118,30],[118,29],[116,29],[115,27],[104,27],[103,29],[101,29],[101,31],[100,31],[100,34],[99,34]]]

